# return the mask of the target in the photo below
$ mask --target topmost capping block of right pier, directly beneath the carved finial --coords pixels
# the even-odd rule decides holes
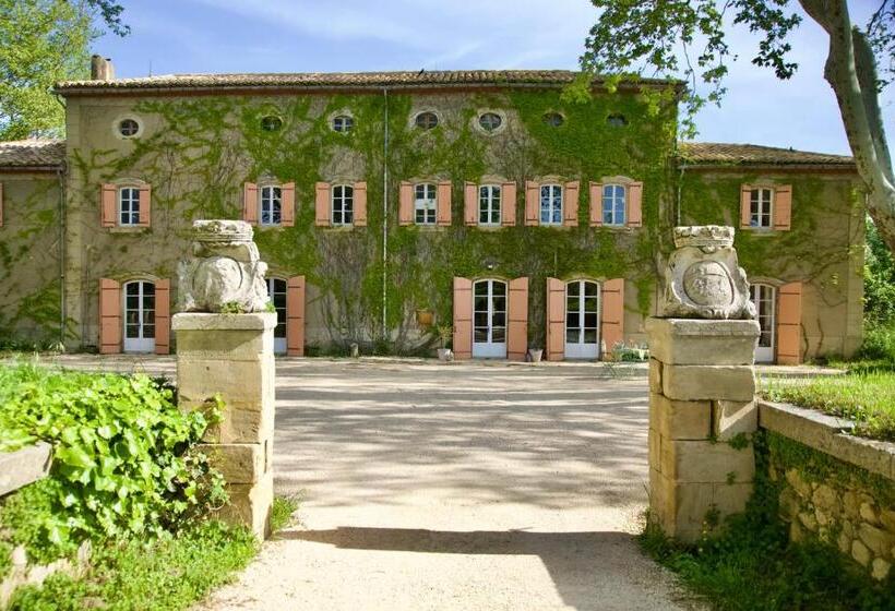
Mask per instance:
[[[665,364],[752,364],[755,321],[649,319],[649,354]]]

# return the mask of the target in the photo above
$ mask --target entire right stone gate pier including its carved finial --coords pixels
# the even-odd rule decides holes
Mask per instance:
[[[752,494],[760,327],[733,228],[675,229],[660,318],[649,334],[649,511],[693,541]]]

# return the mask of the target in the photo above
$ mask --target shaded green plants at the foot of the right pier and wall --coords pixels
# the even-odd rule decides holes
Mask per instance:
[[[756,446],[755,492],[744,514],[695,544],[669,539],[647,522],[640,542],[696,594],[723,611],[885,611],[895,579],[878,584],[838,550],[819,541],[790,543],[778,518],[778,486],[768,474],[768,442]]]

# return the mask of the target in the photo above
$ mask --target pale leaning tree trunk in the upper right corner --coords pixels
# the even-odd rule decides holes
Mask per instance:
[[[895,252],[895,179],[876,92],[876,67],[867,36],[852,28],[847,0],[799,0],[830,36],[824,79],[839,104],[848,144],[867,187],[880,236]]]

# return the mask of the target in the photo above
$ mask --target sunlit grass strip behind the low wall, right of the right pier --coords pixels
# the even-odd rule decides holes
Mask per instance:
[[[769,378],[761,393],[771,400],[855,420],[855,433],[895,441],[895,371],[884,361],[847,363],[848,373],[810,379]]]

